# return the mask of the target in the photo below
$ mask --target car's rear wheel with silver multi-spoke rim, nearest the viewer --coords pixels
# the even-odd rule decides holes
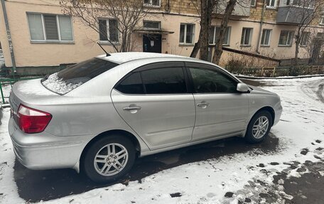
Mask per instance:
[[[109,183],[128,173],[135,158],[134,144],[125,136],[105,136],[87,149],[82,160],[82,169],[92,181]]]

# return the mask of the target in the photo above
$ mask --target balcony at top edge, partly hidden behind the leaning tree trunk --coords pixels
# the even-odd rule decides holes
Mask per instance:
[[[224,1],[224,4],[218,6],[217,9],[215,9],[215,11],[213,11],[212,13],[215,14],[216,16],[221,16],[222,14],[224,14],[225,9],[227,4],[227,1]],[[242,5],[242,4],[246,4],[246,5]],[[231,18],[247,18],[250,16],[250,8],[251,8],[251,1],[244,1],[244,3],[236,4],[234,6],[234,11],[231,14]]]

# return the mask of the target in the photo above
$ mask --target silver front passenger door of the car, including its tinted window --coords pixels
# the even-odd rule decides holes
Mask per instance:
[[[244,131],[249,112],[247,94],[224,71],[200,63],[186,63],[196,105],[193,141]]]

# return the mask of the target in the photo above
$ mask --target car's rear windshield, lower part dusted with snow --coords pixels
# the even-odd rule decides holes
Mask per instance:
[[[117,65],[107,60],[92,58],[65,68],[58,73],[48,75],[43,78],[42,83],[48,90],[65,95],[67,92]]]

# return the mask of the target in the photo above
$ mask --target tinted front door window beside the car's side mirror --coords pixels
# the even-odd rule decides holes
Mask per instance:
[[[237,82],[216,70],[189,68],[197,93],[237,92]]]

